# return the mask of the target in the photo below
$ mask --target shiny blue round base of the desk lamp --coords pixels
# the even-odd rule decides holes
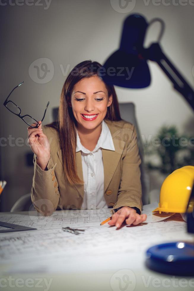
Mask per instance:
[[[151,270],[177,276],[194,276],[194,244],[176,241],[152,246],[146,252]]]

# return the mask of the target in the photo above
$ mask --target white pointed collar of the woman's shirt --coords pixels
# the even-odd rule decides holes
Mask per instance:
[[[76,152],[82,151],[85,154],[91,153],[91,151],[89,151],[87,148],[82,146],[77,129],[76,129],[76,134],[77,134]],[[102,121],[102,130],[101,130],[100,137],[98,139],[98,143],[92,152],[97,151],[99,148],[104,148],[106,150],[115,151],[115,146],[114,146],[114,143],[112,140],[112,135],[110,133],[109,127],[107,126],[106,122],[104,122],[104,120]]]

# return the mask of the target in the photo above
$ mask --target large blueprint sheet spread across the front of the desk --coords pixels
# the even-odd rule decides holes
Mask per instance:
[[[41,271],[68,273],[76,270],[110,269],[115,265],[115,260],[117,268],[125,268],[130,262],[133,262],[133,268],[138,268],[139,264],[143,264],[147,248],[154,244],[180,240],[193,241],[193,235],[187,233],[186,223],[179,214],[171,215],[157,223],[123,225],[117,229],[108,224],[99,226],[99,222],[109,216],[108,211],[102,212],[101,215],[99,213],[97,215],[96,212],[96,216],[95,211],[86,211],[87,215],[90,214],[89,218],[73,218],[71,217],[73,213],[69,211],[64,221],[60,215],[53,215],[56,218],[53,221],[45,217],[47,223],[46,221],[38,223],[37,230],[2,233],[0,273]],[[81,215],[79,211],[78,214]],[[17,216],[14,215],[16,214],[12,214],[12,219],[14,217],[15,223]],[[62,225],[67,224],[66,219],[68,223],[72,221],[72,225],[79,226],[85,231],[79,235],[64,232]],[[24,220],[21,219],[20,222],[24,224]],[[33,222],[26,216],[26,225],[34,227],[34,223],[37,223],[37,220]],[[83,227],[83,224],[86,226]],[[88,227],[88,224],[92,224],[93,227]],[[72,225],[69,224],[71,227]]]

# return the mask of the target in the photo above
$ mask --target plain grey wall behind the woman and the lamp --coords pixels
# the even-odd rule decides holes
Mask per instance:
[[[118,11],[118,1],[113,0],[52,0],[50,6],[43,0],[39,5],[37,0],[31,1],[31,6],[27,0],[15,2],[15,5],[2,2],[6,5],[0,5],[0,151],[1,179],[7,181],[7,186],[1,196],[1,211],[9,211],[20,196],[30,192],[33,176],[33,167],[27,167],[25,160],[25,154],[30,151],[25,144],[27,126],[2,106],[11,89],[24,80],[25,83],[12,95],[12,100],[21,106],[23,114],[30,114],[37,120],[42,118],[50,101],[44,124],[52,121],[52,108],[59,105],[61,89],[70,69],[86,59],[103,64],[107,56],[118,48],[123,20],[128,14],[136,12],[143,14],[147,20],[160,17],[165,21],[162,47],[193,86],[194,6],[191,4],[194,1],[184,2],[187,5],[183,6],[179,0],[133,0],[130,5],[135,7],[131,6],[131,11],[125,10],[125,13]],[[125,4],[125,1],[122,0],[122,3]],[[158,25],[150,29],[147,43],[156,39],[158,29]],[[53,63],[53,68],[48,63],[50,73],[43,80],[38,79],[30,67],[40,58],[48,58]],[[36,65],[41,63],[42,60],[35,62]],[[145,137],[154,136],[164,122],[176,124],[183,131],[193,116],[192,110],[173,90],[156,64],[150,62],[150,69],[150,87],[141,90],[115,87],[119,101],[135,103],[140,131]],[[8,140],[10,137],[12,141]],[[4,143],[7,145],[2,146]]]

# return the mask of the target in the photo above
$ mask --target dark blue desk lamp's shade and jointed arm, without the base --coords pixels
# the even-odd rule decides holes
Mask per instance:
[[[164,31],[163,20],[155,18],[147,23],[142,15],[129,15],[124,21],[120,48],[105,61],[105,72],[99,75],[108,84],[125,88],[145,88],[151,81],[147,60],[155,61],[194,110],[193,89],[162,52],[159,42],[152,43],[149,48],[143,47],[147,28],[155,21],[161,23],[158,37],[160,41]]]

